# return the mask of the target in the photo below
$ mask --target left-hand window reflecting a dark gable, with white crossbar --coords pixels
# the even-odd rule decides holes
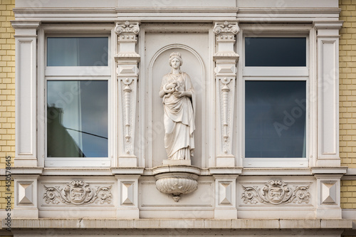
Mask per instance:
[[[46,160],[110,166],[108,36],[46,38]]]

